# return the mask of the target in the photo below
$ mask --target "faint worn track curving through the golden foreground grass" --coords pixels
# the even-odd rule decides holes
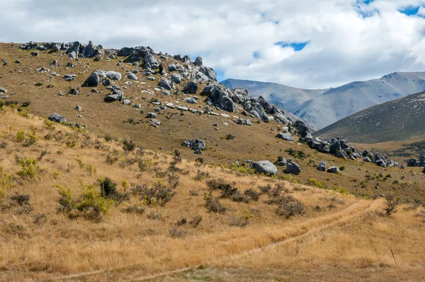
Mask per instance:
[[[312,233],[317,233],[329,228],[332,228],[335,225],[339,225],[341,223],[344,223],[345,221],[353,221],[353,218],[358,217],[360,214],[362,213],[366,213],[369,211],[370,208],[372,208],[373,206],[375,206],[377,204],[377,201],[373,201],[373,202],[368,202],[368,201],[358,201],[355,204],[352,204],[351,206],[348,206],[346,208],[344,208],[343,210],[331,214],[331,215],[326,215],[326,216],[322,216],[320,218],[312,218],[312,220],[310,221],[317,221],[314,223],[314,227],[309,228],[305,233],[302,233],[300,235],[295,235],[293,237],[288,237],[284,240],[280,240],[278,242],[273,242],[269,245],[263,246],[263,247],[257,247],[255,249],[249,249],[246,250],[245,252],[242,252],[240,254],[233,254],[233,255],[229,255],[227,257],[224,258],[220,258],[220,259],[215,259],[215,261],[221,261],[221,262],[226,262],[226,261],[231,261],[234,259],[240,259],[246,255],[251,255],[251,254],[256,254],[259,252],[263,252],[266,251],[268,249],[274,249],[276,247],[280,247],[283,245],[286,245],[290,242],[294,242],[296,240],[300,240],[303,237],[307,237],[309,235],[312,235]],[[356,208],[358,208],[358,206],[361,207],[361,210],[356,210]],[[330,221],[329,223],[327,223],[328,221]],[[308,224],[309,221],[306,221],[303,224]],[[181,269],[174,269],[171,271],[165,271],[159,274],[152,274],[149,276],[141,276],[138,278],[132,278],[131,280],[128,281],[146,281],[149,279],[154,279],[154,278],[159,278],[162,276],[168,276],[168,275],[172,275],[172,274],[178,274],[184,271],[188,271],[188,270],[192,270],[192,269],[197,269],[200,266],[202,266],[203,264],[198,264],[196,266],[188,266],[185,268],[181,268]],[[134,266],[127,266],[126,268],[129,267],[134,267]],[[82,274],[73,274],[73,275],[69,275],[69,276],[62,276],[60,278],[55,278],[53,279],[53,281],[64,281],[67,279],[72,279],[72,278],[83,278],[85,276],[92,276],[92,275],[96,275],[96,274],[102,274],[102,273],[108,273],[110,271],[114,271],[114,269],[108,269],[108,270],[99,270],[99,271],[91,271],[91,272],[86,272],[86,273],[82,273]]]

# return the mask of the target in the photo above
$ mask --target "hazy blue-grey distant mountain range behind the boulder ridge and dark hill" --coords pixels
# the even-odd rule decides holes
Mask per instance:
[[[263,95],[313,127],[322,129],[368,107],[425,91],[425,72],[396,72],[379,79],[322,90],[234,79],[222,84],[229,88],[244,87],[254,96]]]

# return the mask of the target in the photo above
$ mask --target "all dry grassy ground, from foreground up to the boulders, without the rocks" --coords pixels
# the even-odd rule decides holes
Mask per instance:
[[[141,74],[137,83],[117,82],[141,114],[104,102],[106,87],[81,88],[95,69],[136,68],[123,58],[68,67],[60,53],[30,53],[0,45],[0,58],[9,61],[0,67],[9,95],[0,104],[0,281],[423,278],[420,168],[318,153],[276,139],[282,124],[275,121],[233,122],[240,109],[216,111],[230,117],[166,109],[157,115],[162,124],[151,127],[153,98],[183,104],[193,96],[199,102],[191,107],[203,109],[200,90],[164,96],[155,90],[159,74],[154,82]],[[61,66],[50,68],[53,59]],[[41,67],[51,70],[41,74]],[[64,81],[65,74],[77,77]],[[57,95],[69,88],[80,95]],[[86,127],[50,122],[53,112]],[[181,146],[188,138],[205,139],[207,149],[194,154]],[[273,177],[255,175],[245,163],[279,156],[293,158],[300,175],[281,167]],[[319,172],[314,163],[322,160],[342,171]],[[397,213],[385,212],[392,201],[380,194],[392,195]]]

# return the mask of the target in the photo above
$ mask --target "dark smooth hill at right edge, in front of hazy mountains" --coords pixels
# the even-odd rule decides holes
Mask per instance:
[[[356,143],[404,141],[425,136],[425,92],[368,107],[317,131],[314,136],[341,136]]]

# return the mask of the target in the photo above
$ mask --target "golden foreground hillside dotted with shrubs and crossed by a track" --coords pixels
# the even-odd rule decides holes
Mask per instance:
[[[385,216],[383,199],[133,148],[13,104],[0,119],[0,281],[425,278],[418,203]]]

